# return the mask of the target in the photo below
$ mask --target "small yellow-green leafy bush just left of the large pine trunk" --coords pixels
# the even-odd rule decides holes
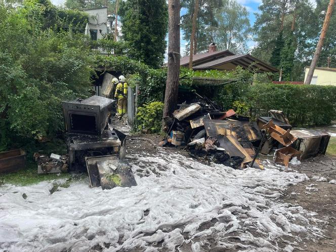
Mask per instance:
[[[151,102],[138,108],[136,116],[137,130],[149,130],[151,133],[158,133],[162,125],[162,102]]]

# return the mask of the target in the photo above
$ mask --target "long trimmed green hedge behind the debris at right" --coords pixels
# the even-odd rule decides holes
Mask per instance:
[[[240,98],[255,117],[282,110],[294,126],[327,125],[336,119],[336,87],[258,84]],[[263,114],[264,113],[264,114]]]

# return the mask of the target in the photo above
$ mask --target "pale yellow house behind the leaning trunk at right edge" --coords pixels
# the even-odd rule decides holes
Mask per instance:
[[[305,81],[309,72],[309,66],[305,68]],[[313,85],[333,85],[336,86],[336,68],[315,67],[312,81]]]

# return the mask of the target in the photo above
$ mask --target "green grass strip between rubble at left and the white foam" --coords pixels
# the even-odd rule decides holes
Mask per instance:
[[[12,184],[18,186],[26,186],[31,184],[37,184],[41,181],[46,180],[69,178],[71,178],[71,176],[68,173],[61,173],[60,176],[57,176],[56,173],[37,174],[37,163],[28,160],[26,163],[26,169],[18,171],[16,173],[0,174],[0,185]]]

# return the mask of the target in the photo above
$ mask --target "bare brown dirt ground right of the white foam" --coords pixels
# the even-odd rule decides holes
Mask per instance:
[[[328,183],[336,179],[336,156],[309,158],[293,169],[306,174],[310,180],[288,187],[279,200],[299,204],[317,213],[317,219],[325,221],[322,224],[323,238],[316,242],[303,240],[306,251],[336,251],[336,185]],[[321,181],[316,181],[317,177]]]

